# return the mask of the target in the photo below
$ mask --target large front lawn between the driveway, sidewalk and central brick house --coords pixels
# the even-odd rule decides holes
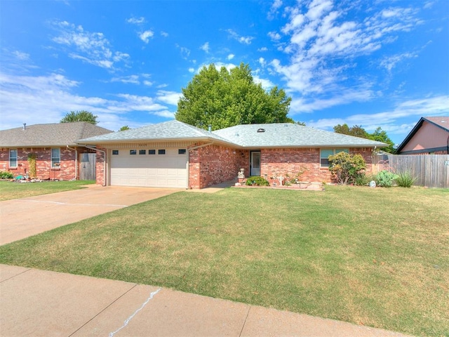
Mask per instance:
[[[179,192],[0,246],[0,263],[449,335],[449,190]]]

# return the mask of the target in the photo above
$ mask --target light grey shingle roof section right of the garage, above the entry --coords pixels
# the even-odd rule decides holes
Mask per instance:
[[[222,128],[213,133],[243,147],[384,147],[387,145],[374,140],[291,123],[238,125]]]

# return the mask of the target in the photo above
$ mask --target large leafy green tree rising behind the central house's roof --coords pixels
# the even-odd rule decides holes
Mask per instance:
[[[203,67],[182,94],[175,118],[199,128],[293,123],[287,117],[291,98],[277,86],[267,92],[255,84],[249,65],[243,63],[230,71],[217,70],[213,64]]]

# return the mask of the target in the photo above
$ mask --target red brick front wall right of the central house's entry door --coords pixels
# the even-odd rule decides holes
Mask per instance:
[[[372,170],[372,150],[370,148],[351,148],[349,153],[361,154],[366,161],[366,171]],[[327,168],[320,167],[320,149],[262,149],[260,175],[272,183],[279,183],[274,180],[274,176],[287,174],[293,178],[297,173],[303,172],[299,177],[300,181],[313,183],[330,183],[331,176]]]

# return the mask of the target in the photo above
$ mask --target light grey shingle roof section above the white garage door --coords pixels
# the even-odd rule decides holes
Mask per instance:
[[[142,126],[141,128],[132,128],[130,130],[108,133],[107,135],[96,136],[79,140],[81,144],[95,143],[116,143],[133,140],[187,140],[204,139],[220,140],[229,143],[228,140],[210,133],[202,128],[197,128],[182,121],[173,119],[159,124]]]

